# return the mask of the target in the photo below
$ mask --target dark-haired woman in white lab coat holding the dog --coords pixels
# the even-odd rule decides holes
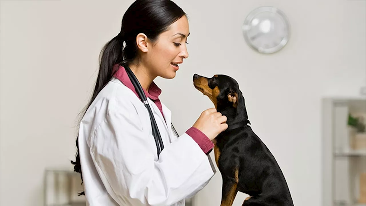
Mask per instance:
[[[91,206],[181,206],[212,178],[208,156],[226,117],[209,108],[177,137],[156,77],[174,78],[188,57],[186,14],[170,0],[137,0],[101,52],[99,74],[76,139],[76,172]],[[125,44],[125,46],[124,46]],[[141,84],[163,140],[157,154],[148,110],[126,72]],[[185,108],[182,108],[184,110]],[[176,114],[179,115],[179,114]]]

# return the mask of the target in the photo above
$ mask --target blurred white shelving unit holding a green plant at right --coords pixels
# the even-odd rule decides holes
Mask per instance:
[[[366,115],[366,97],[322,99],[323,206],[366,206],[366,142],[352,146],[348,114]]]

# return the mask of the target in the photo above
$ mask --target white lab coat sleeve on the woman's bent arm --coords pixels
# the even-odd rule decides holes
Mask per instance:
[[[132,104],[108,111],[89,144],[98,174],[119,205],[170,206],[196,194],[216,172],[187,133],[164,145],[156,161],[154,137],[141,129]]]

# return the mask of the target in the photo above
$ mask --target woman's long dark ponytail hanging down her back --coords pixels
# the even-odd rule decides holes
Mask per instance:
[[[87,108],[89,108],[90,104],[93,103],[94,99],[98,95],[98,93],[107,85],[109,80],[111,80],[113,74],[116,71],[113,71],[113,66],[116,63],[123,62],[123,39],[122,35],[118,34],[116,37],[112,38],[102,49],[100,53],[100,63],[99,63],[99,73],[97,77],[97,81],[94,87],[93,95],[89,100],[86,108],[84,109],[84,115],[86,113]],[[83,184],[83,175],[81,172],[81,164],[80,164],[80,156],[79,156],[79,135],[76,137],[76,160],[71,161],[71,164],[74,165],[74,172],[80,173],[81,181]],[[80,192],[78,194],[85,195],[85,192]]]

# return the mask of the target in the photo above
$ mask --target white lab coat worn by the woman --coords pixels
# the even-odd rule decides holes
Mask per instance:
[[[184,133],[171,129],[171,111],[147,98],[164,143],[157,157],[151,122],[137,95],[117,78],[82,118],[79,154],[90,206],[183,206],[216,173],[212,160]]]

